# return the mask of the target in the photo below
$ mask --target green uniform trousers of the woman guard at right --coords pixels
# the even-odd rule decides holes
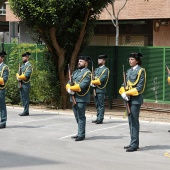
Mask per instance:
[[[129,129],[131,142],[130,146],[137,148],[139,146],[139,113],[140,113],[141,104],[132,104],[130,106],[131,113],[128,116],[129,120]]]

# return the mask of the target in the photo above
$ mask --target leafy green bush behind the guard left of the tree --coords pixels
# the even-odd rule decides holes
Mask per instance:
[[[7,65],[10,69],[10,75],[6,91],[6,102],[20,104],[16,73],[19,69],[19,63],[22,64],[21,55],[26,51],[29,51],[32,54],[30,63],[33,66],[33,74],[30,80],[30,103],[45,104],[60,108],[60,84],[57,71],[46,48],[35,44],[18,44],[15,41],[7,52],[9,54]]]

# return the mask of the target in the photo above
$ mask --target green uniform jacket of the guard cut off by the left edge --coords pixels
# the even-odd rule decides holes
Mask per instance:
[[[9,68],[6,64],[2,63],[0,66],[0,76],[4,79],[5,85],[0,85],[0,93],[5,93],[6,84],[9,76]]]

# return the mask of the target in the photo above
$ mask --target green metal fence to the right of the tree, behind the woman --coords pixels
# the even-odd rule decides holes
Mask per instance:
[[[123,82],[122,65],[129,68],[128,57],[132,52],[141,52],[144,56],[142,67],[146,69],[145,101],[170,103],[170,87],[167,83],[165,62],[170,66],[170,47],[87,47],[82,54],[90,55],[97,67],[97,56],[107,54],[106,66],[110,68],[110,80],[107,86],[109,99],[120,98],[118,90]]]

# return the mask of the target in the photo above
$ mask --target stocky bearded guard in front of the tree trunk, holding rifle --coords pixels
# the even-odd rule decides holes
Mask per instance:
[[[78,132],[71,138],[75,141],[85,139],[86,116],[85,110],[87,103],[90,102],[90,83],[91,71],[87,68],[89,56],[80,56],[78,61],[78,69],[72,74],[72,82],[66,85],[66,90],[70,94],[70,101],[73,102],[72,109],[78,124]],[[74,99],[74,101],[73,101]]]

